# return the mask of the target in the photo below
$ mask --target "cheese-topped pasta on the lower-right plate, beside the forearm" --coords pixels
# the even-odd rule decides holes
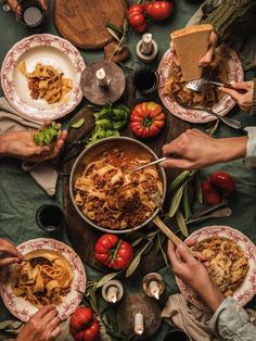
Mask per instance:
[[[248,260],[234,241],[209,238],[193,247],[208,262],[207,269],[225,296],[232,295],[243,282],[248,270]]]

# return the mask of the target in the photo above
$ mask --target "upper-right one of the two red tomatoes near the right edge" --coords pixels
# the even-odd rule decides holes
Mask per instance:
[[[229,197],[234,191],[234,180],[228,173],[216,172],[213,173],[209,177],[210,184],[217,188],[222,197]]]

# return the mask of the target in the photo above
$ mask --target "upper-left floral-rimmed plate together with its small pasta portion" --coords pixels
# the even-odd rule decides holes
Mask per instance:
[[[16,42],[1,68],[1,86],[9,103],[31,119],[53,121],[81,101],[79,51],[57,36],[33,35]]]

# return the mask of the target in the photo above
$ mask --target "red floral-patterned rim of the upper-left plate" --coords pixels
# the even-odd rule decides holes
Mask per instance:
[[[77,79],[73,79],[75,84],[68,94],[68,101],[66,100],[53,104],[46,102],[46,108],[36,108],[17,94],[16,84],[14,81],[14,72],[17,67],[17,61],[21,60],[26,52],[39,47],[55,48],[57,51],[61,51],[73,65],[74,74],[77,75]],[[85,68],[86,64],[80,52],[69,41],[54,35],[37,34],[17,41],[9,50],[1,67],[1,86],[9,103],[25,117],[39,121],[53,121],[67,115],[80,103],[82,99],[80,76]],[[28,88],[27,91],[29,91]]]

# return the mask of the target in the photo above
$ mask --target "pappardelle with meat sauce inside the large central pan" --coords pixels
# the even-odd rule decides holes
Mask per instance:
[[[75,181],[75,202],[94,224],[123,229],[144,223],[162,204],[163,182],[155,166],[131,173],[151,161],[123,149],[92,160]]]

